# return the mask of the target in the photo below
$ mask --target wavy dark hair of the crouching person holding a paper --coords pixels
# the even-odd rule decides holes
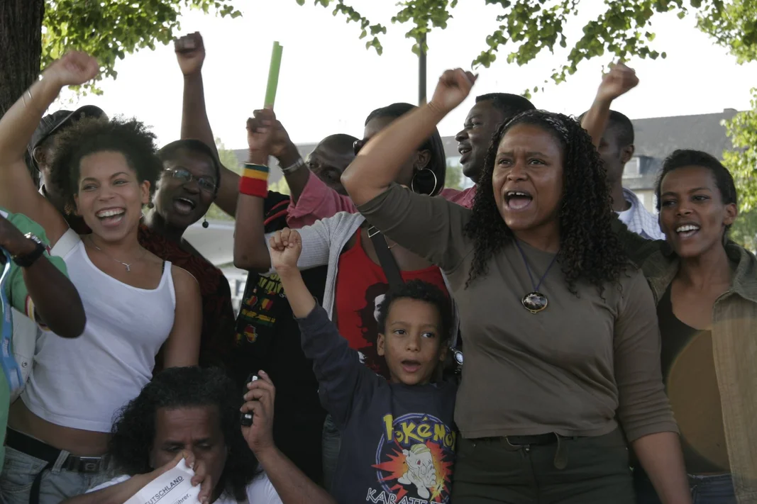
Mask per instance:
[[[258,473],[257,459],[241,434],[241,403],[241,390],[220,369],[197,366],[164,369],[117,413],[108,451],[116,468],[124,474],[148,473],[154,469],[149,457],[158,408],[216,406],[229,450],[218,484],[241,501],[247,495],[247,485]]]

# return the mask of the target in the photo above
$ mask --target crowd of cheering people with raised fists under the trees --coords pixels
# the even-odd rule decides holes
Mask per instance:
[[[0,120],[0,502],[132,504],[182,463],[219,504],[757,502],[737,188],[686,145],[656,215],[623,188],[634,128],[611,106],[634,70],[578,119],[476,97],[458,191],[437,124],[472,73],[307,159],[255,110],[240,175],[200,34],[175,48],[181,135],[160,149],[98,107],[44,115],[98,73],[76,51]],[[268,190],[272,158],[290,194]],[[249,272],[236,319],[182,238],[213,203]]]

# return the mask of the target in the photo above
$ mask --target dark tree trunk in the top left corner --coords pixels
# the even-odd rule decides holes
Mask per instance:
[[[45,0],[0,0],[0,115],[39,77]]]

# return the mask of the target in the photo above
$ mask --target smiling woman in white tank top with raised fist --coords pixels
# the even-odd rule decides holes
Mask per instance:
[[[89,55],[66,54],[0,120],[0,204],[45,228],[87,317],[80,338],[37,342],[32,378],[11,407],[2,502],[57,503],[82,493],[107,468],[114,414],[150,380],[157,350],[166,343],[166,367],[198,362],[195,278],[137,241],[162,171],[154,135],[136,120],[104,119],[81,119],[56,135],[51,179],[90,235],[68,228],[26,169],[25,145],[42,113],[63,86],[97,72]]]

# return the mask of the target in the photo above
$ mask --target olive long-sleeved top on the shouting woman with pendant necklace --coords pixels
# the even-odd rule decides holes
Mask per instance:
[[[636,269],[601,295],[579,282],[576,296],[556,263],[539,288],[547,309],[534,314],[521,303],[534,285],[514,242],[466,288],[471,210],[397,185],[359,210],[447,274],[464,341],[455,410],[463,437],[599,436],[618,427],[616,418],[628,440],[678,431],[662,384],[653,295]],[[554,254],[521,247],[538,282]]]

